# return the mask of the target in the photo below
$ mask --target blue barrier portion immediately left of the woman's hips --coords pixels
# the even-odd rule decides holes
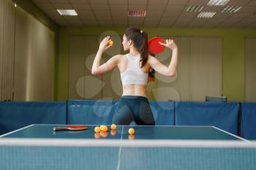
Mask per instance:
[[[69,100],[67,124],[110,125],[116,101],[112,100]]]

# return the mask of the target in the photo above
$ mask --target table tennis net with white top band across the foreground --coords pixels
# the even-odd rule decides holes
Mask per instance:
[[[256,169],[255,143],[44,142],[15,145],[0,140],[0,169]]]

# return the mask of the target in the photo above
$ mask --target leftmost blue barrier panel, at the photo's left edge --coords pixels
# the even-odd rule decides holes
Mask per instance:
[[[0,134],[31,124],[67,124],[67,102],[0,102]]]

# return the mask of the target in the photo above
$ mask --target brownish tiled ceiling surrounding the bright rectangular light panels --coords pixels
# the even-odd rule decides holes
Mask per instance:
[[[226,6],[243,6],[236,13],[225,6],[206,6],[209,0],[32,0],[59,26],[138,26],[170,28],[256,28],[256,0],[230,0]],[[189,5],[217,12],[213,18],[197,18]],[[56,9],[75,9],[78,16],[61,16]],[[128,10],[146,9],[145,18],[129,18]]]

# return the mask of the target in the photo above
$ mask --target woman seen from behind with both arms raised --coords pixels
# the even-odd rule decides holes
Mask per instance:
[[[178,63],[178,47],[172,39],[159,42],[173,50],[169,66],[160,63],[157,58],[148,55],[148,35],[138,28],[127,28],[124,32],[122,45],[127,55],[115,55],[106,63],[100,65],[102,54],[111,45],[110,36],[105,37],[99,45],[99,50],[94,59],[91,73],[99,75],[118,67],[121,73],[123,94],[118,101],[113,123],[129,125],[133,121],[137,125],[154,125],[154,117],[146,96],[148,72],[151,69],[166,76],[175,76]]]

